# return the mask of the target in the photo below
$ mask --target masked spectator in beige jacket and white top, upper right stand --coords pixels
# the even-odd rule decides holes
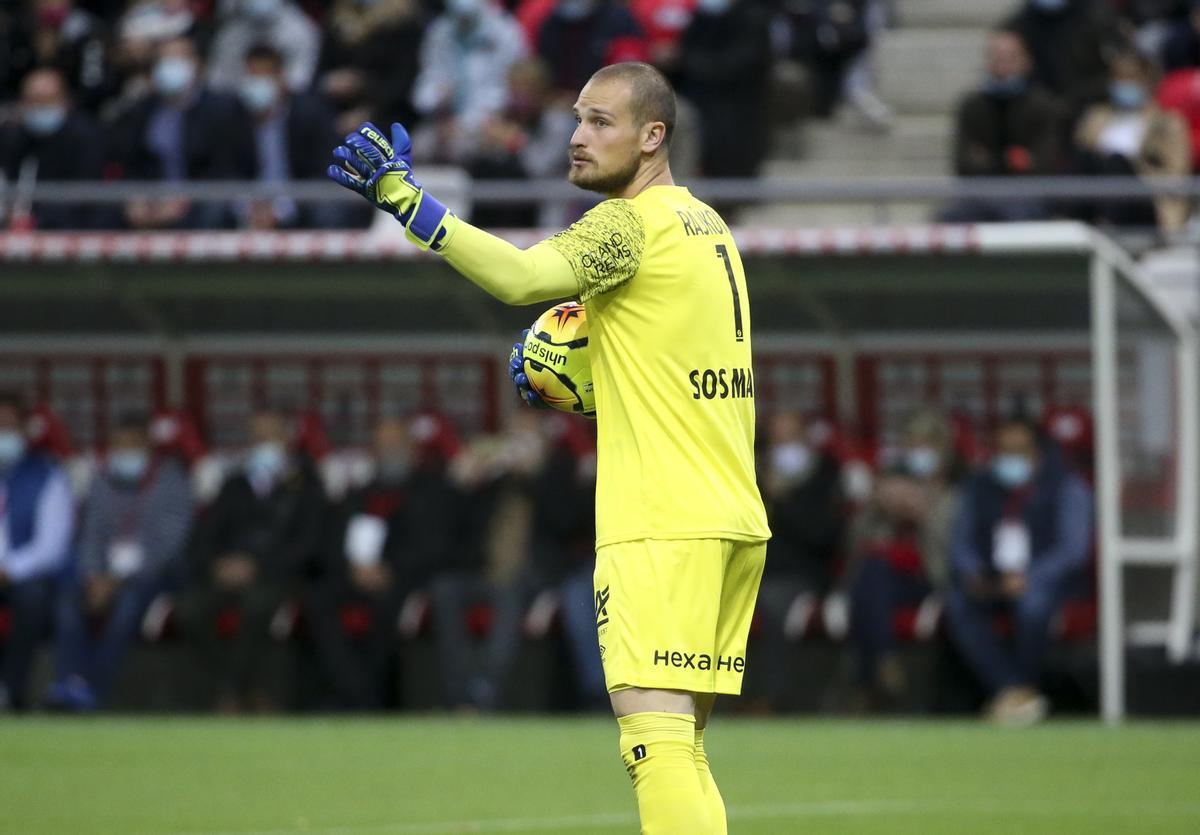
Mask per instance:
[[[1187,176],[1192,172],[1188,128],[1151,97],[1153,67],[1136,52],[1112,60],[1110,101],[1093,104],[1075,131],[1079,168],[1110,176]],[[1166,234],[1183,228],[1190,210],[1184,197],[1150,200],[1098,200],[1085,209],[1093,223],[1158,226]]]

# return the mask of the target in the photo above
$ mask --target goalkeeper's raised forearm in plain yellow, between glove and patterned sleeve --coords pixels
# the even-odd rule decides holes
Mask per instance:
[[[570,263],[552,247],[520,250],[466,221],[454,223],[456,228],[442,250],[443,257],[505,305],[532,305],[580,292]]]

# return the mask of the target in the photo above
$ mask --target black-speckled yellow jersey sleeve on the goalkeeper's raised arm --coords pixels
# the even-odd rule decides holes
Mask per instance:
[[[538,246],[553,248],[570,263],[580,301],[587,301],[634,277],[642,263],[646,223],[630,200],[605,200]]]

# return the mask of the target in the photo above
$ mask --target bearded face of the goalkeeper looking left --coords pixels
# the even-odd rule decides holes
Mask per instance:
[[[642,126],[630,107],[629,85],[618,80],[588,82],[575,102],[578,127],[571,136],[571,185],[613,194],[624,190],[642,161]]]

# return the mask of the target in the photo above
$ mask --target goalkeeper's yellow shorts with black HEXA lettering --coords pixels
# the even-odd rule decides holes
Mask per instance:
[[[595,608],[608,692],[742,692],[766,542],[635,540],[596,552]]]

